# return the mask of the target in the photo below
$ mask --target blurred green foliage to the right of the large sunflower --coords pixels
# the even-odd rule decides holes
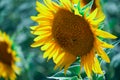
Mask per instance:
[[[115,48],[108,53],[111,63],[103,62],[103,69],[106,71],[105,78],[106,80],[120,80],[120,0],[101,0],[101,3],[106,15],[105,25],[109,27],[112,34],[118,37],[114,42]]]

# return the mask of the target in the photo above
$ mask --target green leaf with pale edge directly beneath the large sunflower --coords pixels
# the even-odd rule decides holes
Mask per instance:
[[[62,79],[62,80],[78,80],[80,77],[80,65],[73,65],[68,68],[66,75],[64,74],[64,70],[57,72],[51,77],[52,79]]]

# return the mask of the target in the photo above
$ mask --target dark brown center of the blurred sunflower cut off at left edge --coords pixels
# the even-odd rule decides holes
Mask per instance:
[[[0,62],[11,66],[13,58],[12,54],[8,52],[8,44],[6,42],[0,42]]]

